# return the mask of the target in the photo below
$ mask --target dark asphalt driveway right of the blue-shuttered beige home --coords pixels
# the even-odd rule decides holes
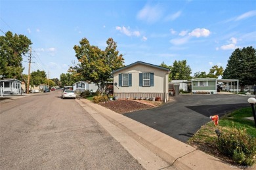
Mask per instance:
[[[177,95],[170,103],[149,110],[138,110],[124,114],[179,141],[186,142],[210,122],[211,115],[224,114],[249,107],[248,97],[236,94]]]

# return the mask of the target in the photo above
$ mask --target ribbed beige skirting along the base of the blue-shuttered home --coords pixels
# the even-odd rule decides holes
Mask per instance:
[[[118,97],[118,99],[135,99],[135,97],[143,97],[144,99],[146,97],[151,98],[151,97],[160,97],[161,101],[165,99],[165,96],[167,97],[167,100],[169,100],[168,93],[164,95],[164,93],[114,93],[114,96]]]

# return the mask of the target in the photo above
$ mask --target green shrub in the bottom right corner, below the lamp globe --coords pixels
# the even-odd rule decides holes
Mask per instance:
[[[240,165],[253,165],[256,156],[256,139],[245,129],[232,129],[223,133],[218,143],[219,151]]]

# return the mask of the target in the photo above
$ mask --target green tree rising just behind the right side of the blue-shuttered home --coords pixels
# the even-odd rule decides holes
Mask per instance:
[[[192,73],[189,65],[186,65],[186,60],[174,61],[171,67],[171,79],[172,80],[190,80]]]

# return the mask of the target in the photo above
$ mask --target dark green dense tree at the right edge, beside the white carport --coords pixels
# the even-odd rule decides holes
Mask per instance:
[[[256,50],[252,46],[237,48],[228,59],[223,78],[238,79],[242,90],[245,85],[256,84]]]

